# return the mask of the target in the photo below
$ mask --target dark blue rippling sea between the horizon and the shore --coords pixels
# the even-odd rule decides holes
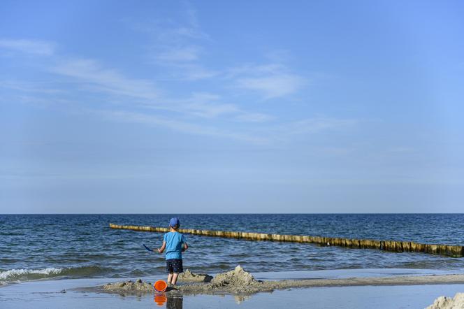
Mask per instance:
[[[0,284],[41,278],[128,278],[164,273],[147,252],[162,234],[113,230],[116,224],[166,227],[173,215],[0,215]],[[177,215],[183,228],[464,244],[463,214]],[[187,236],[184,267],[218,273],[343,268],[464,269],[463,258]]]

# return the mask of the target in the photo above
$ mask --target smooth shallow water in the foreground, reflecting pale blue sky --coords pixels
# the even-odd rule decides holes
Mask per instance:
[[[333,271],[335,275],[346,271]],[[351,273],[349,273],[350,275]],[[282,277],[268,273],[268,277]],[[303,276],[303,275],[302,275]],[[152,280],[161,279],[152,278]],[[120,279],[119,279],[120,280]],[[148,278],[144,278],[148,280]],[[0,288],[0,308],[426,308],[438,296],[454,296],[464,291],[464,285],[393,285],[313,287],[275,290],[272,293],[233,296],[169,295],[157,299],[156,294],[121,296],[79,290],[96,287],[117,279],[73,279],[24,282]],[[62,290],[64,293],[61,293]],[[159,301],[159,303],[157,303]],[[160,305],[160,306],[158,306]]]

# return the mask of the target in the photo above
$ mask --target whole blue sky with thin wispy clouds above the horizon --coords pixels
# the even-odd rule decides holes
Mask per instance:
[[[462,1],[0,16],[0,213],[462,212]]]

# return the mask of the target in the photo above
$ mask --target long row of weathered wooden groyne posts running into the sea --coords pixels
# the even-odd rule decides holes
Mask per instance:
[[[166,227],[140,227],[136,225],[118,225],[113,223],[110,223],[110,228],[130,229],[133,231],[148,231],[155,233],[166,233],[169,231],[169,229]],[[389,252],[423,252],[428,254],[445,255],[447,257],[464,257],[464,247],[461,245],[430,245],[424,243],[414,243],[412,241],[279,235],[240,231],[210,231],[201,229],[179,229],[179,231],[180,233],[189,233],[192,235],[210,237],[237,238],[245,240],[284,241],[292,243],[315,243],[321,246],[336,245],[340,247],[349,247],[354,249],[378,249]]]

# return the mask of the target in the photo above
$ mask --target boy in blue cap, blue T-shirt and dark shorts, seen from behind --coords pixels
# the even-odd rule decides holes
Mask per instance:
[[[180,227],[179,219],[172,218],[169,221],[168,233],[164,234],[163,245],[158,249],[163,253],[166,249],[166,271],[168,272],[168,285],[175,285],[179,273],[184,271],[182,266],[182,252],[185,252],[189,245],[185,237],[177,231]]]

